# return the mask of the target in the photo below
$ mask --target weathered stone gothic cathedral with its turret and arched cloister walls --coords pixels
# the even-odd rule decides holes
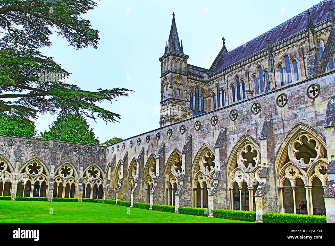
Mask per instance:
[[[257,222],[304,201],[335,223],[334,7],[324,0],[231,51],[222,38],[210,68],[188,64],[173,14],[160,128],[108,147],[0,136],[0,195],[28,187],[49,201],[256,211]]]

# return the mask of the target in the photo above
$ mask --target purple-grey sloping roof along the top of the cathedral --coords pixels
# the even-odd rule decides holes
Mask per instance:
[[[325,0],[317,5],[314,5],[309,10],[313,23],[319,23],[324,19],[329,18],[329,8],[335,7],[335,0]],[[307,11],[304,11],[284,23],[272,28],[262,35],[250,40],[245,45],[242,45],[222,57],[214,72],[220,71],[238,61],[243,60],[267,47],[266,40],[270,39],[272,44],[292,36],[295,33],[303,31],[307,28]]]

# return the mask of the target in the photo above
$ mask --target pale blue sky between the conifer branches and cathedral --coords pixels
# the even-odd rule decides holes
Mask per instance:
[[[120,122],[106,125],[88,119],[103,142],[114,136],[129,138],[159,128],[160,63],[175,12],[178,35],[183,39],[188,63],[209,68],[222,48],[228,51],[297,15],[319,1],[112,1],[84,15],[100,31],[99,49],[76,51],[65,39],[53,35],[46,56],[72,73],[67,83],[83,90],[124,87],[135,92],[102,106],[121,114]],[[48,129],[56,115],[35,122],[38,132]]]

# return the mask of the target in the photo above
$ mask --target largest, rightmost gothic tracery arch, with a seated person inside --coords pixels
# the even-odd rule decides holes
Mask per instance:
[[[308,126],[296,125],[285,137],[275,160],[282,213],[300,213],[300,200],[308,214],[325,214],[327,151],[322,137]],[[303,211],[305,213],[305,211]]]

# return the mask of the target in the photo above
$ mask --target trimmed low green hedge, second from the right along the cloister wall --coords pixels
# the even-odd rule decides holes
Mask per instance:
[[[240,211],[240,210],[225,210],[215,209],[213,210],[214,218],[222,218],[227,220],[241,220],[241,221],[256,221],[255,211]]]

